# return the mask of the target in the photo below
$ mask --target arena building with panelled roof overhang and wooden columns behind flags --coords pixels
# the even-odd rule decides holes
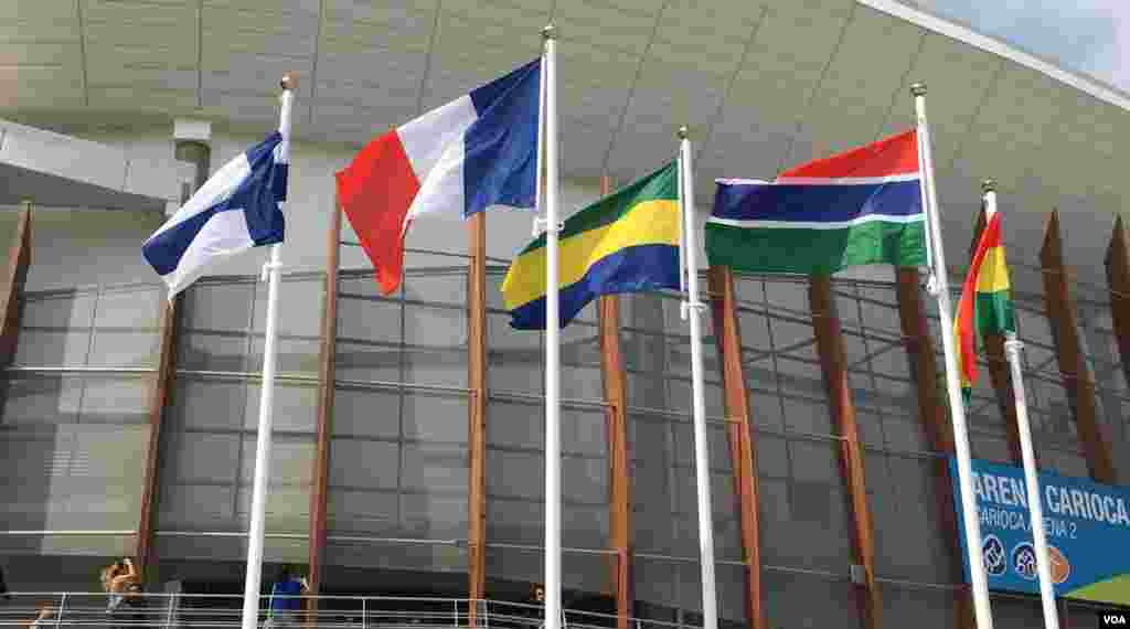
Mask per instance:
[[[322,594],[529,601],[540,582],[544,347],[508,327],[498,290],[530,217],[490,212],[483,233],[419,221],[402,288],[381,296],[348,222],[336,231],[332,173],[373,133],[533,59],[549,20],[563,33],[565,213],[605,176],[624,184],[673,156],[675,129],[690,124],[704,215],[713,177],[772,178],[912,126],[909,84],[925,81],[951,286],[980,183],[1000,182],[1041,469],[1130,483],[1130,260],[1121,224],[1111,233],[1128,196],[1130,96],[893,0],[728,2],[723,17],[681,0],[518,5],[0,7],[0,116],[102,145],[41,142],[68,175],[116,159],[121,172],[86,180],[169,207],[275,126],[282,72],[301,78],[269,565],[304,566]],[[180,121],[210,126],[185,145]],[[85,198],[9,204],[8,157],[26,146],[12,138],[0,121],[9,587],[96,591],[102,566],[136,554],[151,591],[238,594],[266,252],[225,262],[169,308],[140,255],[166,217]],[[966,626],[923,278],[712,269],[703,281],[723,623]],[[701,624],[679,307],[672,294],[621,296],[562,332],[567,606]],[[986,346],[972,451],[1015,463],[1000,340]],[[1040,622],[1031,597],[994,595],[993,610],[998,628]],[[1079,604],[1062,614],[1094,621]]]

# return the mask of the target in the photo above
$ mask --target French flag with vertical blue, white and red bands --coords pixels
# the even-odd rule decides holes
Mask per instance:
[[[338,203],[388,295],[419,216],[533,209],[541,59],[371,141],[337,173]]]

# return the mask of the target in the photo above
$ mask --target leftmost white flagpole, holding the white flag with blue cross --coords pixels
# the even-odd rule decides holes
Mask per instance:
[[[279,114],[279,133],[282,136],[282,159],[289,163],[290,154],[290,108],[294,89],[298,86],[295,77],[282,77],[282,107]],[[271,420],[275,403],[275,355],[279,318],[279,268],[281,244],[271,245],[271,261],[263,265],[263,274],[269,277],[267,291],[267,330],[263,341],[263,382],[259,398],[259,435],[255,439],[255,473],[251,493],[251,526],[247,531],[247,575],[243,587],[243,629],[255,629],[259,624],[259,588],[263,570],[263,528],[267,512],[267,481],[271,464]]]

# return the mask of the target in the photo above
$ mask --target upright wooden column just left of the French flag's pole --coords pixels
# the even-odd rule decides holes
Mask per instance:
[[[467,272],[467,597],[486,597],[487,543],[487,217],[478,212],[470,219],[470,268]],[[471,604],[468,623],[477,622],[477,605]]]

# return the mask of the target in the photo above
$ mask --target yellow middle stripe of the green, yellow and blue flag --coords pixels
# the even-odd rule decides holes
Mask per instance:
[[[679,202],[672,199],[644,201],[616,222],[560,242],[558,289],[576,283],[590,267],[617,251],[678,244]],[[506,273],[502,291],[510,311],[545,296],[546,247],[518,256]]]

